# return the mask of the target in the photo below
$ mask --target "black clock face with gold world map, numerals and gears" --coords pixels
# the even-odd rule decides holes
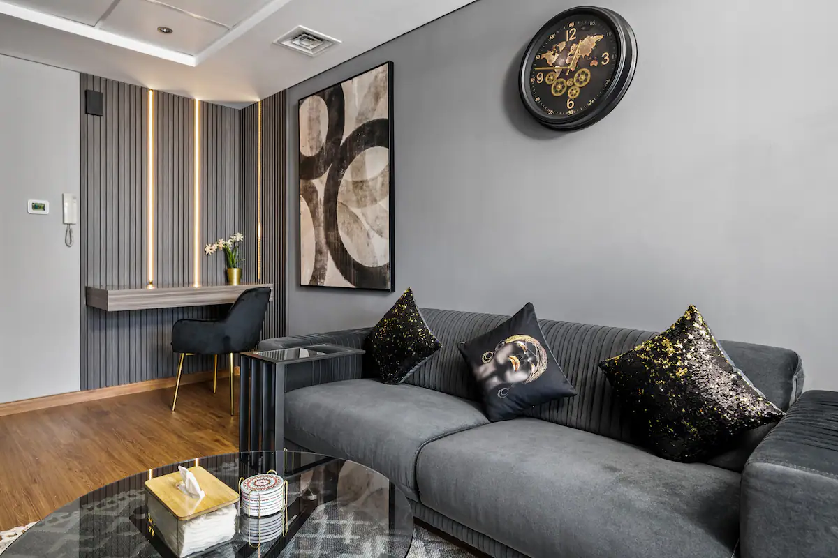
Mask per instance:
[[[579,118],[604,101],[620,52],[613,28],[592,14],[561,19],[537,39],[530,97],[551,120]]]

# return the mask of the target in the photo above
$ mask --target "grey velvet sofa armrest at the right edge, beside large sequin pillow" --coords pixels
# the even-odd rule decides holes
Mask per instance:
[[[804,392],[742,472],[742,558],[834,556],[838,392]]]

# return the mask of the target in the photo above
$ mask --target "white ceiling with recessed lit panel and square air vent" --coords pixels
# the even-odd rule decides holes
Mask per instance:
[[[241,107],[471,2],[0,0],[0,54]],[[340,43],[273,44],[298,25]]]

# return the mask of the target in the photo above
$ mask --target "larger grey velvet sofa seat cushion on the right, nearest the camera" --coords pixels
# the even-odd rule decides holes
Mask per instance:
[[[428,443],[420,502],[544,558],[730,558],[741,475],[534,418]]]

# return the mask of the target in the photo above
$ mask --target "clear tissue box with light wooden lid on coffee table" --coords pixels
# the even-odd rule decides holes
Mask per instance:
[[[146,481],[146,506],[153,531],[179,558],[199,555],[235,536],[239,494],[205,468],[190,467],[204,498],[194,499],[178,489],[177,471]]]

